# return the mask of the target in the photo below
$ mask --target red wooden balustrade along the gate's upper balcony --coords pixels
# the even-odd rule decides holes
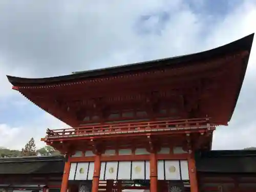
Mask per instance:
[[[209,118],[87,125],[69,129],[47,130],[47,138],[104,136],[111,134],[150,133],[191,129],[210,129]]]

